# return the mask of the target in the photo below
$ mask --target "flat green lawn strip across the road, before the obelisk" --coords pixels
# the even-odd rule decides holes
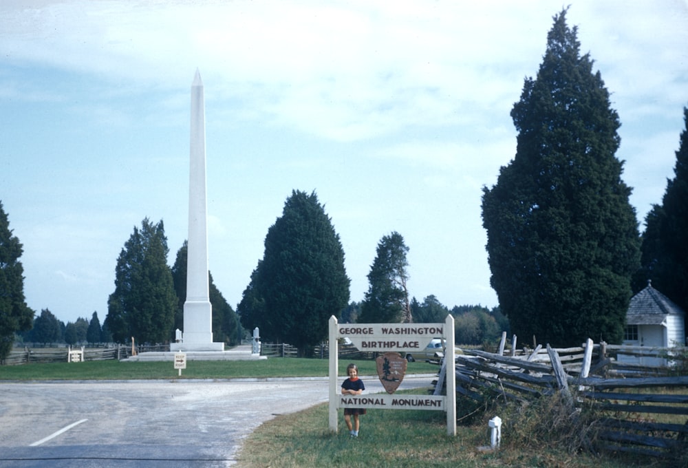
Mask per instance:
[[[339,361],[339,375],[354,362],[361,375],[377,375],[375,361]],[[270,377],[327,376],[327,359],[270,358],[256,361],[187,361],[186,369],[175,370],[173,362],[86,361],[83,363],[41,363],[0,366],[0,381],[41,380],[130,380],[130,379],[266,379]],[[407,374],[431,374],[438,367],[409,363]]]

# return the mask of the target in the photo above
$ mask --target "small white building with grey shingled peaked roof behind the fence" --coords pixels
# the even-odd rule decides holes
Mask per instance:
[[[626,312],[624,345],[673,348],[686,342],[685,312],[661,292],[647,288],[631,298]],[[665,359],[619,355],[624,363],[667,365]]]

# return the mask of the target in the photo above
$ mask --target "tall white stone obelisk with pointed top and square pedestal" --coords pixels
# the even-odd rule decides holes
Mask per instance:
[[[205,120],[203,82],[196,70],[191,83],[189,250],[186,257],[184,334],[182,343],[173,343],[171,350],[224,351],[224,343],[213,343],[213,306],[208,289]]]

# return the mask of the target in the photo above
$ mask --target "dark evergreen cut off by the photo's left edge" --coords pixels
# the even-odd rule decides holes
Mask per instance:
[[[34,311],[24,301],[23,253],[0,202],[0,361],[12,350],[14,334],[31,328]]]

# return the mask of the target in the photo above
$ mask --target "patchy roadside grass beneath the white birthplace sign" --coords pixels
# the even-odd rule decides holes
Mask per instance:
[[[422,390],[399,393],[420,393]],[[486,421],[459,426],[447,436],[444,412],[368,409],[361,432],[351,438],[339,412],[338,433],[328,427],[327,404],[296,414],[284,414],[256,429],[239,453],[239,468],[252,467],[529,467],[629,468],[627,462],[566,449],[513,446],[503,434],[499,451],[481,451],[489,445]],[[537,437],[533,434],[533,437]]]

